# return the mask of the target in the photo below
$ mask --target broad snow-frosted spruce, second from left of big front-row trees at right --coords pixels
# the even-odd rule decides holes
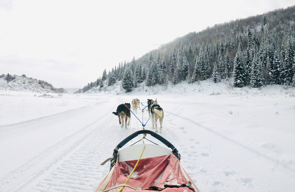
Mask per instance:
[[[261,87],[263,86],[264,78],[262,74],[262,65],[261,60],[258,59],[257,54],[254,54],[252,66],[251,66],[251,74],[250,74],[250,85],[252,87]]]

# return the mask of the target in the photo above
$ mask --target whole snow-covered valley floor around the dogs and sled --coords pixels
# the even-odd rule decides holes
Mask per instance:
[[[112,114],[133,98],[157,98],[165,113],[160,135],[178,149],[201,192],[294,191],[294,88],[204,81],[122,92],[1,91],[0,191],[95,191],[109,172],[101,162],[142,129],[133,114],[127,129]],[[148,120],[148,112],[136,115]],[[146,129],[154,131],[151,121]]]

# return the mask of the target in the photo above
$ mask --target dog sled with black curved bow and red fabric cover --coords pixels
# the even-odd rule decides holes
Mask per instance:
[[[149,134],[161,141],[162,147],[144,137],[140,141],[121,149],[127,142],[140,134]],[[153,144],[145,144],[144,139]],[[119,150],[120,149],[120,150]],[[199,192],[194,182],[180,164],[177,149],[153,131],[137,131],[115,147],[110,172],[100,183],[96,192]]]

